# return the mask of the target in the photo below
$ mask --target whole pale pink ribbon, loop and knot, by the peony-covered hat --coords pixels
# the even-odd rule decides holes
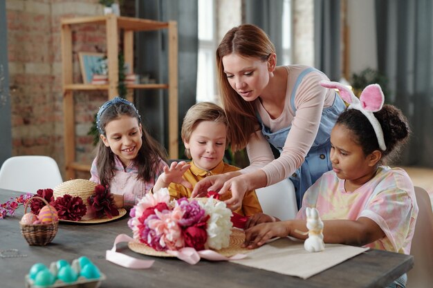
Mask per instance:
[[[105,254],[105,259],[113,262],[114,264],[120,265],[122,267],[131,269],[148,269],[154,264],[154,260],[140,260],[127,256],[123,253],[116,252],[116,244],[120,242],[131,242],[134,241],[133,238],[127,236],[126,234],[120,234],[114,240],[114,245],[111,250],[107,250]],[[236,254],[232,257],[225,257],[220,253],[213,250],[201,250],[196,251],[192,247],[185,247],[178,251],[167,250],[167,254],[177,257],[180,260],[187,262],[190,265],[195,265],[200,261],[201,258],[210,261],[228,261],[228,260],[240,260],[246,258],[245,254]]]

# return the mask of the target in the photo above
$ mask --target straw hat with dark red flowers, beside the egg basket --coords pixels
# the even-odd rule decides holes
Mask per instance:
[[[89,203],[87,203],[87,198],[89,198],[93,193],[95,193],[95,187],[98,184],[92,182],[90,180],[85,179],[74,179],[63,182],[62,184],[58,184],[55,189],[53,189],[54,198],[61,197],[65,194],[69,194],[72,197],[80,197],[83,200],[83,203],[86,204],[87,213],[82,217],[80,221],[72,221],[72,220],[60,220],[62,222],[74,222],[74,223],[84,223],[84,224],[93,224],[93,223],[102,223],[108,222],[112,220],[116,220],[121,218],[123,215],[127,213],[127,211],[123,208],[118,209],[119,215],[113,216],[111,219],[104,218],[95,218],[95,213],[93,209],[91,209]]]

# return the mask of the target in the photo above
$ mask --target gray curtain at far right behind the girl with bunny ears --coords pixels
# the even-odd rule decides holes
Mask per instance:
[[[433,4],[376,0],[378,68],[412,128],[400,164],[433,167]]]

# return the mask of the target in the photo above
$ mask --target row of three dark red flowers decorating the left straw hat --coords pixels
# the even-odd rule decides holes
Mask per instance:
[[[64,194],[54,200],[53,189],[39,189],[35,196],[44,198],[46,202],[53,206],[61,220],[79,221],[86,215],[87,207],[80,196],[73,197]],[[95,195],[87,198],[87,202],[99,218],[104,215],[107,215],[108,218],[119,215],[119,211],[114,204],[113,195],[100,184],[95,186]],[[45,202],[39,199],[32,199],[32,202],[30,202],[30,208],[35,215],[39,214],[39,211],[45,205]]]

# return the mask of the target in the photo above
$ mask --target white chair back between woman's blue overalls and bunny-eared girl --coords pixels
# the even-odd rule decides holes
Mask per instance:
[[[257,198],[263,212],[279,218],[294,219],[297,213],[295,186],[291,180],[284,179],[273,185],[256,189]]]

